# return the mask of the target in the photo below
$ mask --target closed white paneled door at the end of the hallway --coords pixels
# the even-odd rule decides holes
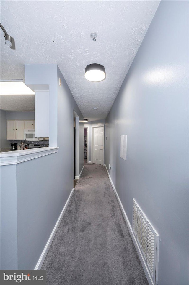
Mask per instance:
[[[104,164],[104,126],[93,128],[93,163]]]

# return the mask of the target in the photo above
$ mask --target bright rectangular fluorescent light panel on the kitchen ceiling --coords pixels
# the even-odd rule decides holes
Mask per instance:
[[[34,95],[23,81],[0,81],[0,95]]]

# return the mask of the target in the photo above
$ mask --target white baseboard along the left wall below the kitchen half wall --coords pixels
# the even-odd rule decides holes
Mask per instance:
[[[57,222],[56,222],[56,225],[55,225],[54,228],[53,228],[53,231],[52,231],[52,233],[51,233],[51,235],[50,235],[50,237],[49,237],[49,239],[48,239],[48,242],[47,242],[46,245],[45,245],[45,248],[43,249],[43,252],[42,252],[42,254],[41,254],[41,256],[40,256],[40,258],[39,258],[39,260],[38,260],[38,263],[36,264],[34,270],[40,270],[40,269],[41,269],[41,267],[42,267],[42,265],[43,265],[43,262],[44,262],[44,260],[45,260],[45,257],[46,257],[46,255],[47,255],[47,253],[48,253],[48,250],[49,250],[49,248],[50,248],[50,245],[51,245],[51,243],[52,243],[52,241],[53,241],[53,238],[54,238],[54,236],[55,236],[55,234],[56,234],[56,231],[58,230],[58,227],[59,227],[59,225],[60,225],[60,222],[61,222],[61,220],[62,220],[62,218],[63,218],[63,215],[64,215],[65,212],[66,212],[67,206],[68,206],[68,204],[69,204],[69,202],[70,202],[71,197],[72,197],[73,194],[74,194],[74,188],[71,190],[71,193],[70,193],[70,195],[69,195],[69,197],[68,197],[68,200],[66,201],[66,204],[65,204],[64,207],[63,207],[63,210],[62,210],[62,212],[61,212],[61,214],[60,214],[60,216],[59,216],[59,218],[58,218],[58,220],[57,220]]]

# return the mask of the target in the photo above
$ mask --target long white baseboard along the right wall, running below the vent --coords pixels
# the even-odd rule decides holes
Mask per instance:
[[[116,196],[116,198],[117,198],[117,200],[118,200],[118,203],[119,203],[119,206],[120,206],[120,208],[121,208],[121,212],[122,212],[123,217],[124,217],[124,219],[125,219],[125,221],[126,221],[126,224],[127,224],[129,233],[130,233],[130,235],[131,235],[131,238],[132,238],[132,240],[133,240],[134,246],[135,246],[136,251],[137,251],[137,253],[138,253],[138,255],[139,255],[139,258],[140,258],[142,267],[143,267],[143,269],[144,269],[144,273],[146,274],[146,278],[147,278],[147,280],[148,280],[148,283],[149,283],[149,285],[154,285],[154,282],[153,282],[153,280],[152,280],[152,278],[151,278],[151,276],[150,276],[150,273],[149,273],[149,269],[146,267],[145,260],[144,260],[144,258],[143,258],[143,256],[142,256],[142,253],[141,253],[141,249],[139,248],[139,246],[138,246],[138,244],[137,244],[136,238],[135,238],[135,236],[134,236],[134,234],[133,234],[133,229],[132,229],[131,224],[130,224],[130,222],[129,222],[129,220],[128,220],[128,217],[127,217],[127,215],[126,215],[126,212],[125,212],[125,210],[124,210],[124,208],[123,208],[123,205],[122,205],[122,203],[121,203],[121,200],[120,200],[120,198],[119,198],[119,196],[118,196],[118,193],[117,193],[117,191],[116,191],[116,189],[115,189],[115,186],[114,186],[114,184],[113,184],[113,181],[112,181],[112,179],[111,179],[111,177],[110,177],[110,174],[109,174],[109,172],[108,172],[108,170],[107,170],[107,167],[106,167],[105,164],[104,164],[104,166],[105,166],[105,168],[106,168],[107,175],[108,175],[108,177],[109,177],[109,179],[110,179],[110,183],[111,183],[111,185],[112,185],[112,188],[113,188],[113,190],[114,190],[115,196]]]

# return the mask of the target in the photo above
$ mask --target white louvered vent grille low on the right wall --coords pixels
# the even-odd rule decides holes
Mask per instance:
[[[151,226],[146,216],[133,199],[133,232],[141,253],[151,274],[151,278],[157,285],[158,276],[158,251],[159,235]]]

